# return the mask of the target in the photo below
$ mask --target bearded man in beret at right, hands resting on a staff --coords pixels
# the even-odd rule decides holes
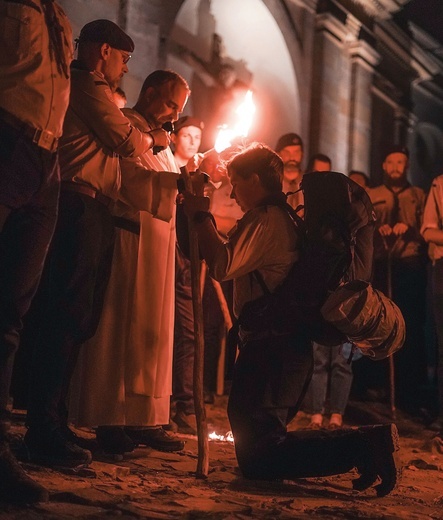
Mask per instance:
[[[415,412],[426,381],[426,249],[420,235],[425,193],[408,182],[408,159],[406,148],[389,148],[383,184],[368,192],[377,216],[373,284],[392,297],[406,322],[405,348],[394,358],[397,404]]]

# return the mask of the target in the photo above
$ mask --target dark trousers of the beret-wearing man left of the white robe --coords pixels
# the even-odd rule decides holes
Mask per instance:
[[[103,308],[114,235],[107,207],[87,195],[61,193],[35,299],[39,323],[28,400],[30,427],[54,429],[66,422],[65,398],[79,347],[94,335]]]

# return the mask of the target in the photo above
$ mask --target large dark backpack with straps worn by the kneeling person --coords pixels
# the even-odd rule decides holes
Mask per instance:
[[[322,345],[338,345],[346,334],[325,320],[321,307],[343,282],[369,281],[375,213],[366,191],[338,172],[312,172],[301,182],[304,219],[289,204],[298,234],[299,260],[271,293],[258,270],[263,295],[246,303],[238,318],[243,333],[275,336],[301,332]]]

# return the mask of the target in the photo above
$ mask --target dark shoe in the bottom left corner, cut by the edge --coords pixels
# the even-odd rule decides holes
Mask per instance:
[[[0,442],[0,500],[2,502],[35,504],[49,500],[48,491],[28,477],[9,449]]]

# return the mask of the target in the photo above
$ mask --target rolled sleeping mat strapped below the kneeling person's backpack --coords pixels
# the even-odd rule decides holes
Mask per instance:
[[[405,341],[405,321],[397,305],[369,282],[340,285],[321,308],[323,318],[374,361],[397,352]]]

